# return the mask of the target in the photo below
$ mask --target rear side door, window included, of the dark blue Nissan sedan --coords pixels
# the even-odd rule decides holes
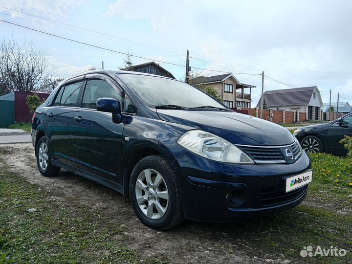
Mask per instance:
[[[72,165],[71,126],[84,80],[63,85],[46,110],[46,132],[53,159]]]

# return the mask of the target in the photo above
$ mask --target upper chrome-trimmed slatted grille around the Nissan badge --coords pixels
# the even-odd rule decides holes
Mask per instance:
[[[256,163],[260,164],[280,164],[280,163],[292,163],[298,159],[301,155],[301,149],[297,142],[294,142],[286,146],[273,146],[273,147],[262,147],[262,146],[249,146],[249,145],[237,145],[246,154],[248,154]],[[294,159],[289,160],[285,155],[285,150],[288,149],[292,152]]]

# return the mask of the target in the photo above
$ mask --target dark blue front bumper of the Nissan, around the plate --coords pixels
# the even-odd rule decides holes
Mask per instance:
[[[292,164],[239,165],[185,152],[177,163],[185,218],[212,222],[259,217],[297,206],[308,186],[285,193],[285,179],[311,167],[306,153]]]

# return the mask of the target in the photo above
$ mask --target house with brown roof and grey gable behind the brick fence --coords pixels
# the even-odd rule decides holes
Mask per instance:
[[[261,107],[259,100],[257,107]],[[322,120],[323,101],[316,86],[266,91],[263,101],[267,109],[305,112],[306,119]]]

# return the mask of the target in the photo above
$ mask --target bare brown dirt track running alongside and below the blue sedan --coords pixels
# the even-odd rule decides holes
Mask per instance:
[[[126,246],[144,257],[163,256],[166,260],[177,263],[256,264],[269,262],[268,259],[274,259],[275,263],[291,263],[282,254],[266,256],[267,254],[258,252],[260,249],[252,248],[249,234],[248,239],[243,239],[245,234],[238,237],[236,223],[215,224],[185,220],[183,224],[167,232],[147,228],[134,215],[130,202],[109,188],[65,170],[56,177],[41,176],[30,143],[0,145],[0,153],[3,160],[10,165],[11,172],[21,174],[30,183],[49,191],[53,198],[57,196],[59,200],[63,197],[74,197],[75,202],[88,205],[123,223],[125,235],[128,237]]]

